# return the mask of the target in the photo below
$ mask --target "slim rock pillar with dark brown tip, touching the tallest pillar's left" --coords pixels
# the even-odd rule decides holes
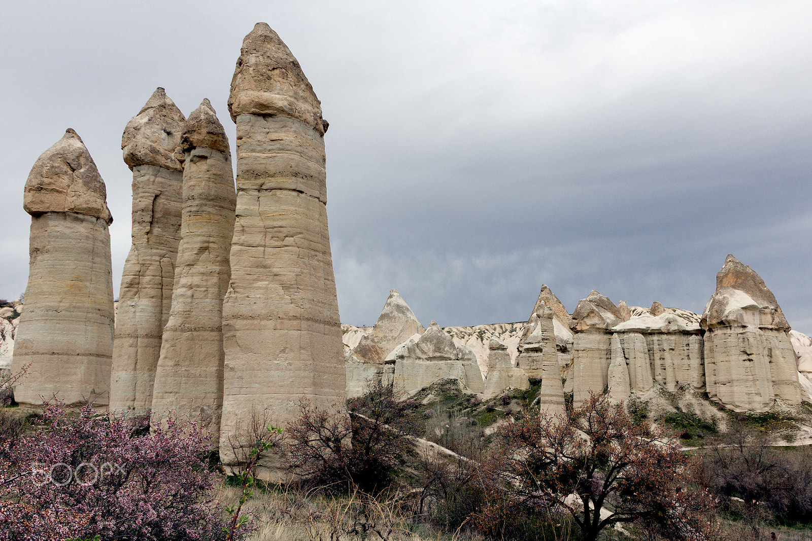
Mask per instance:
[[[217,432],[222,410],[222,298],[231,268],[236,193],[226,131],[209,100],[184,126],[184,204],[172,309],[152,409],[190,412]]]

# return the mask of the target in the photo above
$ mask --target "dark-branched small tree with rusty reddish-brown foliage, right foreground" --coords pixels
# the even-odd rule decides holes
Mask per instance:
[[[635,425],[605,395],[593,394],[567,416],[506,423],[497,438],[481,475],[489,503],[473,515],[486,535],[525,539],[526,517],[562,512],[586,541],[623,523],[665,539],[715,535],[705,520],[710,497],[685,485],[692,462],[679,439]]]

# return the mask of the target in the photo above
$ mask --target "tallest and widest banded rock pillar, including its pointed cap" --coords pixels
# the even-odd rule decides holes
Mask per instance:
[[[237,125],[237,207],[223,304],[221,456],[257,407],[274,426],[296,400],[346,391],[327,230],[321,104],[276,32],[245,36],[228,99]]]

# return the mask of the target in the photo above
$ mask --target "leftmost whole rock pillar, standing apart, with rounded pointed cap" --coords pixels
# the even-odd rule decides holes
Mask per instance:
[[[34,163],[25,183],[31,214],[25,310],[13,371],[20,404],[56,395],[67,404],[107,403],[113,350],[113,281],[106,187],[76,131]]]

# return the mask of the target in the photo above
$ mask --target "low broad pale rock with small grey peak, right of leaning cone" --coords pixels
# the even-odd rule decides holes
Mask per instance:
[[[413,393],[434,381],[455,378],[471,393],[484,391],[482,372],[473,351],[466,346],[456,346],[435,321],[421,337],[415,338],[417,335],[396,347],[386,359],[387,363],[395,361],[396,386]]]

